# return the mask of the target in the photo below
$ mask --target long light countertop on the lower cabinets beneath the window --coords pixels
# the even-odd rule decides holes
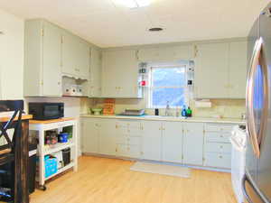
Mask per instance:
[[[238,118],[211,118],[211,117],[175,117],[164,115],[80,115],[81,117],[93,118],[115,118],[115,119],[135,119],[135,120],[154,120],[154,121],[181,121],[181,122],[202,122],[202,123],[218,123],[218,124],[236,124],[245,125],[246,121]]]

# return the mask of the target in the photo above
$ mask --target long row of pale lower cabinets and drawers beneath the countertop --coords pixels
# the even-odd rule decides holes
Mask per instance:
[[[233,125],[90,117],[81,121],[85,153],[230,169]]]

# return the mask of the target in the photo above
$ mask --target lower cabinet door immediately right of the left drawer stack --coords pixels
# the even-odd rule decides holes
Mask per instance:
[[[145,160],[161,161],[162,123],[159,121],[143,122],[143,156]]]

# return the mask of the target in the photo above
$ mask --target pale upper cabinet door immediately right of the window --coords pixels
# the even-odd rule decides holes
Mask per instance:
[[[198,98],[229,97],[229,43],[197,45],[195,95]]]

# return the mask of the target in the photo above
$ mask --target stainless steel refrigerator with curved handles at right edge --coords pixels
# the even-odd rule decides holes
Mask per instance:
[[[248,36],[248,146],[243,193],[248,203],[271,202],[271,3]]]

